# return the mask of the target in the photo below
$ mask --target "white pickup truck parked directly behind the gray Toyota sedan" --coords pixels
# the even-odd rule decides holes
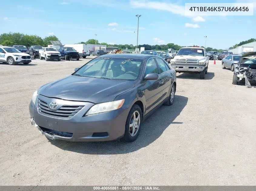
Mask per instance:
[[[199,46],[183,47],[177,56],[171,60],[171,67],[176,72],[199,73],[204,79],[208,70],[209,57],[204,48]]]

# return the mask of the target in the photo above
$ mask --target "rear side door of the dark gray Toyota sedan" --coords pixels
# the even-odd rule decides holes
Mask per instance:
[[[168,94],[171,86],[171,69],[167,66],[166,62],[161,58],[155,58],[159,70],[160,70],[160,84],[163,87],[163,94],[162,94],[162,100],[166,97],[166,94]],[[161,100],[161,101],[162,101]]]

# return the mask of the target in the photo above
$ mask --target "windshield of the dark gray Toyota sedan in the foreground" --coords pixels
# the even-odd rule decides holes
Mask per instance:
[[[141,66],[142,59],[98,57],[82,66],[73,75],[113,80],[135,80],[138,78]]]

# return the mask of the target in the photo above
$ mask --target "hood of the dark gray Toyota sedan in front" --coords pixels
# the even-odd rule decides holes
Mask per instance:
[[[135,87],[135,81],[87,78],[70,75],[43,85],[38,94],[64,100],[102,103]]]

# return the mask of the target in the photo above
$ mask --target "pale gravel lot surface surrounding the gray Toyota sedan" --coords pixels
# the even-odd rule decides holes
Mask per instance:
[[[0,64],[0,185],[256,185],[256,88],[232,85],[221,61],[203,80],[177,74],[175,103],[135,142],[49,142],[30,123],[32,94],[90,58]]]

